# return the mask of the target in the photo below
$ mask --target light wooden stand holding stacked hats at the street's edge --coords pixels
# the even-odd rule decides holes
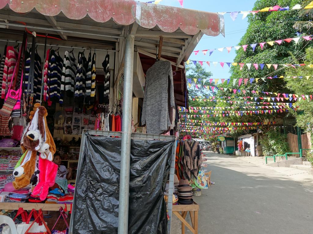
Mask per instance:
[[[186,220],[188,212],[191,219],[191,225]],[[196,202],[193,202],[192,205],[173,205],[172,213],[182,222],[182,234],[185,234],[185,226],[193,234],[198,234],[198,212],[199,205]]]

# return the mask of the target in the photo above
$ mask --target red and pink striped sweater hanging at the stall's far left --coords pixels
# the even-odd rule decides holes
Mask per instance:
[[[14,68],[16,65],[16,59],[18,53],[14,50],[13,46],[7,46],[7,53],[4,61],[3,68],[3,80],[1,89],[1,98],[4,99],[8,91],[8,87],[11,84]]]

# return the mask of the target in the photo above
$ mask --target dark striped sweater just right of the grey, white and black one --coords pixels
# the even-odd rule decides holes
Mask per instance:
[[[83,103],[85,99],[86,88],[86,58],[83,52],[78,53],[78,65],[75,78],[75,93],[74,99],[78,103]],[[87,64],[88,66],[88,64]]]

